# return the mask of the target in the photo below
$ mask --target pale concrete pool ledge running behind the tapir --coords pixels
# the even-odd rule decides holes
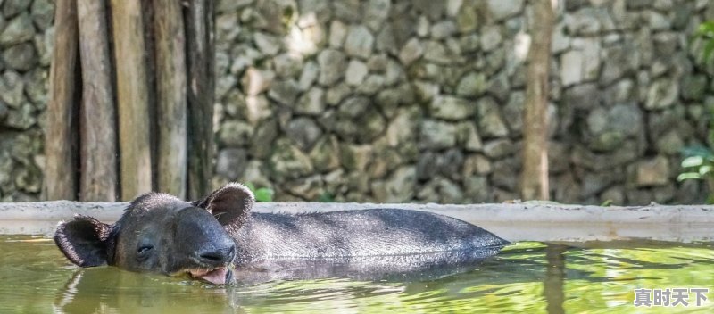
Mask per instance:
[[[51,235],[74,214],[104,222],[119,219],[128,202],[0,203],[0,234]],[[540,202],[514,204],[373,204],[259,202],[253,211],[300,213],[397,208],[429,211],[468,221],[510,241],[610,241],[629,238],[714,241],[714,206],[600,207]]]

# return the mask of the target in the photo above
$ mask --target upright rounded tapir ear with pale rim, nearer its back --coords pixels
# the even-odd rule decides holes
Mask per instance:
[[[203,201],[196,201],[194,205],[211,211],[221,225],[241,227],[248,219],[253,208],[255,197],[247,187],[229,183],[213,191]]]

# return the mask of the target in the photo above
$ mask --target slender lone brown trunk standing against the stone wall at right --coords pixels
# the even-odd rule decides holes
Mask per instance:
[[[520,194],[525,200],[550,198],[548,186],[548,70],[551,61],[551,1],[534,1],[528,52],[526,106],[523,120],[523,171]]]

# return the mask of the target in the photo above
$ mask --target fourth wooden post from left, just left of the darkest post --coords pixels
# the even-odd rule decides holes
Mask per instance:
[[[183,199],[187,191],[186,40],[180,0],[155,0],[154,49],[159,190]]]

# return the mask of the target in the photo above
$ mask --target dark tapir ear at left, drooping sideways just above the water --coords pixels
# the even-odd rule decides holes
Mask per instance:
[[[54,243],[71,262],[81,266],[106,264],[106,239],[112,230],[101,221],[77,215],[70,221],[62,221],[54,232]]]

